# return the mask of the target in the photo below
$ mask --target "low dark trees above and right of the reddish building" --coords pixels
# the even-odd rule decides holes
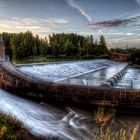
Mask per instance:
[[[133,62],[135,64],[140,64],[140,49],[138,48],[127,48],[127,49],[114,48],[114,49],[110,49],[110,51],[128,54],[130,62]]]

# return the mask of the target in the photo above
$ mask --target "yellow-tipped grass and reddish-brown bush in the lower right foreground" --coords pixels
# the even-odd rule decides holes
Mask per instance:
[[[115,117],[115,110],[105,110],[103,107],[98,107],[95,111],[95,120],[99,127],[99,131],[95,134],[96,140],[136,140],[136,135],[139,129],[139,123],[133,128],[133,131],[129,132],[126,128],[120,128],[120,130],[112,131],[111,126],[105,126],[109,120],[111,121]],[[120,126],[121,127],[121,126]]]

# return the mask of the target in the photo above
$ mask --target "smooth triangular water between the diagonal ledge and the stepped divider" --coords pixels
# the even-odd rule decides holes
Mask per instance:
[[[66,80],[59,81],[59,83],[67,83],[73,85],[84,86],[101,86],[107,80],[112,78],[118,72],[126,67],[127,64],[117,64],[109,66],[107,68],[99,69],[90,73],[82,74],[80,76],[74,76]]]

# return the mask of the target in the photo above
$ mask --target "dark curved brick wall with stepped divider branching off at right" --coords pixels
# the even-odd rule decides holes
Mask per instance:
[[[3,46],[2,43],[1,46]],[[4,49],[1,49],[0,52],[4,53]],[[116,78],[121,78],[127,67],[124,67],[102,86],[83,86],[36,80],[20,72],[11,62],[4,60],[5,54],[1,56],[0,87],[18,96],[58,104],[140,108],[140,90],[115,89],[108,86]]]

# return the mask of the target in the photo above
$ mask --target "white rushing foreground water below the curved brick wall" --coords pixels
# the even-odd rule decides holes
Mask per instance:
[[[84,132],[89,134],[90,131],[88,122],[93,120],[92,113],[35,103],[3,90],[0,90],[0,106],[3,112],[16,116],[31,132],[49,138],[84,138]]]

